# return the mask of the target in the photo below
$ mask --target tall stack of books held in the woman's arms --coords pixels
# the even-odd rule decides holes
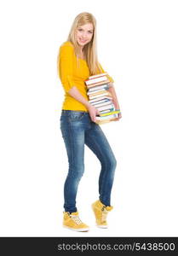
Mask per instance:
[[[89,103],[100,111],[100,116],[96,116],[96,123],[98,124],[117,119],[119,113],[112,103],[112,94],[108,91],[110,80],[106,75],[107,73],[100,73],[85,80]]]

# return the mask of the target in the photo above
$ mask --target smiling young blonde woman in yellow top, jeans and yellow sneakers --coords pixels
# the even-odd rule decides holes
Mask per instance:
[[[78,215],[76,196],[84,172],[84,144],[100,160],[99,198],[92,204],[96,224],[106,228],[106,215],[112,210],[111,191],[117,160],[105,134],[96,124],[98,109],[89,104],[84,81],[91,75],[105,73],[96,54],[96,20],[89,13],[79,14],[73,21],[67,41],[60,45],[58,71],[65,90],[60,115],[60,130],[68,157],[69,169],[64,185],[63,226],[76,231],[88,231]],[[110,79],[112,102],[119,109],[118,98]],[[118,119],[121,118],[121,113]]]

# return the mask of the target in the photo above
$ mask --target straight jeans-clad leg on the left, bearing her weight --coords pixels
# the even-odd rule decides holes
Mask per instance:
[[[60,130],[68,156],[68,174],[64,185],[65,212],[77,212],[78,184],[84,172],[84,129],[80,122],[82,113],[75,112],[60,119]]]

